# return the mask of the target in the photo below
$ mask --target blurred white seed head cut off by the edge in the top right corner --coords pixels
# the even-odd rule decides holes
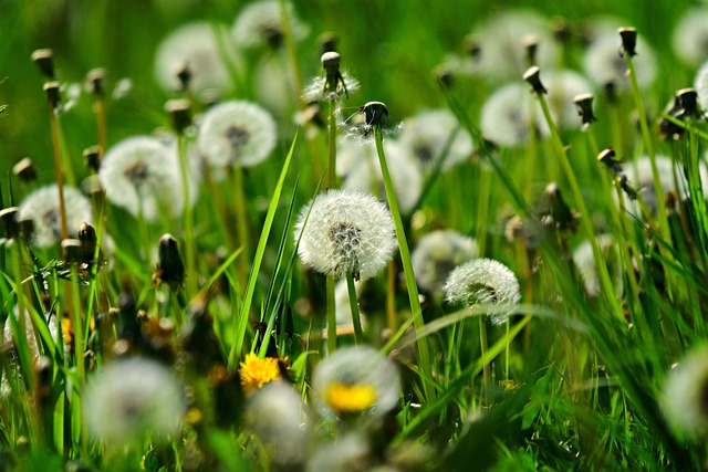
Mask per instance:
[[[691,8],[684,12],[674,27],[671,45],[677,57],[688,65],[708,60],[708,9]]]

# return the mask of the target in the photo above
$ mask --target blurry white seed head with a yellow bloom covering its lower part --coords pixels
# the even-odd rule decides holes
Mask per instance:
[[[400,401],[400,376],[395,364],[371,346],[347,346],[323,359],[312,378],[314,403],[323,417],[336,416],[327,403],[332,386],[364,386],[373,389],[373,405],[363,415],[381,418]]]

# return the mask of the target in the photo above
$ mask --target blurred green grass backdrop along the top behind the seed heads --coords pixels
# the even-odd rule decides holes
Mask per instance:
[[[231,27],[247,2],[197,0],[0,0],[0,172],[30,156],[40,180],[53,179],[51,140],[43,78],[30,60],[39,48],[54,50],[62,82],[81,83],[86,72],[105,67],[108,90],[128,77],[133,88],[119,102],[108,102],[108,145],[165,125],[163,105],[170,96],[154,77],[154,55],[160,40],[192,20],[218,21]],[[339,38],[343,65],[355,75],[362,91],[347,105],[369,99],[386,102],[402,119],[425,107],[444,105],[431,71],[449,52],[460,52],[464,36],[494,12],[527,7],[548,18],[571,23],[608,14],[634,25],[659,57],[659,80],[649,106],[663,107],[675,90],[690,86],[695,71],[673,59],[670,33],[678,15],[695,2],[596,0],[565,1],[295,1],[309,36],[298,44],[303,77],[320,71],[317,36],[333,31]],[[579,57],[580,61],[580,57]],[[249,91],[235,97],[252,98]],[[471,116],[477,117],[478,111]],[[288,124],[287,124],[288,125]],[[291,125],[291,124],[290,124]],[[294,130],[294,125],[293,130]],[[96,141],[91,101],[86,94],[62,117],[66,151],[80,166],[82,150]],[[288,132],[288,130],[285,130]]]

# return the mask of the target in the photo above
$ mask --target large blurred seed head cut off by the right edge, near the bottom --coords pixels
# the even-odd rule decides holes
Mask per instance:
[[[669,424],[683,434],[708,433],[708,347],[691,350],[666,376],[663,409]]]

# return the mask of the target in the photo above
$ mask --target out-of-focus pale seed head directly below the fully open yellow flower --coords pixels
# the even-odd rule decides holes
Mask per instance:
[[[289,384],[271,381],[254,391],[246,403],[243,420],[277,464],[292,468],[305,461],[309,410]]]

